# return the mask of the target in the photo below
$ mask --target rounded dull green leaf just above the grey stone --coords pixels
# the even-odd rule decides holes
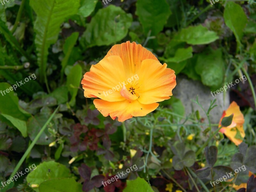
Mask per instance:
[[[221,49],[199,54],[195,69],[196,73],[201,76],[204,85],[220,86],[224,77],[224,61]]]

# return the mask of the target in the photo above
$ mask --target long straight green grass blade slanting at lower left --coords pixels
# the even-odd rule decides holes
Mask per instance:
[[[60,106],[58,106],[55,111],[52,113],[52,115],[49,117],[49,119],[46,121],[46,123],[44,124],[44,126],[42,127],[42,129],[40,130],[40,132],[36,135],[35,139],[33,140],[33,142],[29,145],[28,149],[26,150],[26,152],[24,153],[24,155],[21,157],[19,163],[16,165],[15,169],[13,170],[9,180],[15,175],[15,173],[19,170],[21,164],[23,163],[23,161],[26,159],[26,157],[28,156],[28,154],[30,153],[31,149],[34,147],[34,145],[36,144],[36,141],[39,139],[39,137],[41,136],[41,134],[44,132],[45,128],[47,127],[47,125],[50,123],[50,121],[52,120],[53,116],[55,115],[55,113],[57,112],[57,110],[59,109]]]

